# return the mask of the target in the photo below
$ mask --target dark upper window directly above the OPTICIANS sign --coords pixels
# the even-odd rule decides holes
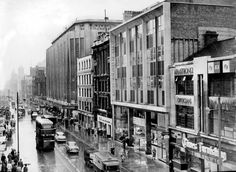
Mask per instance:
[[[177,76],[175,82],[177,95],[193,95],[193,76]]]

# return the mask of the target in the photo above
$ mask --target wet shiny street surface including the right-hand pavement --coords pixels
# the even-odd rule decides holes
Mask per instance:
[[[107,140],[107,138],[98,138],[82,134],[78,128],[65,130],[67,140],[74,140],[80,147],[79,155],[68,155],[65,150],[65,143],[56,143],[54,151],[40,152],[36,150],[35,144],[35,121],[31,121],[30,115],[27,115],[19,120],[20,126],[20,158],[24,163],[29,163],[29,171],[34,172],[89,172],[92,169],[84,165],[83,152],[88,146],[96,147],[100,151],[110,150],[111,146],[115,146],[115,154],[120,159],[120,154],[123,148],[120,144]],[[97,144],[99,143],[99,144]],[[8,150],[16,148],[16,133],[13,134],[12,141],[8,143]],[[127,148],[128,158],[122,163],[121,171],[141,171],[154,172],[168,171],[167,166],[163,163],[153,161],[147,158],[142,153],[135,152],[132,148]]]

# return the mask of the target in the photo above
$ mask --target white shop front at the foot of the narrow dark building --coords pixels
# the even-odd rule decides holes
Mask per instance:
[[[112,119],[97,115],[97,126],[100,135],[112,137]]]

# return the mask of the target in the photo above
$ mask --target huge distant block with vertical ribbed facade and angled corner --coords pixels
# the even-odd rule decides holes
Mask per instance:
[[[99,32],[110,29],[117,20],[76,20],[47,49],[47,99],[68,115],[77,109],[77,59],[91,54]]]

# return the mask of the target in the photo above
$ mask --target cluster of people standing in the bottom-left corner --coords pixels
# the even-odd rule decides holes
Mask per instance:
[[[24,164],[22,159],[19,159],[15,149],[12,149],[7,157],[2,153],[1,162],[1,172],[28,172],[28,164]]]

